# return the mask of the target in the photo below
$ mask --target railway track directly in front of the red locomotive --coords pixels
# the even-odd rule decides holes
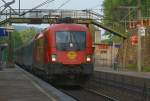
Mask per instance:
[[[58,88],[58,87],[57,87]],[[59,87],[60,91],[73,97],[77,101],[119,101],[107,95],[83,87]]]

